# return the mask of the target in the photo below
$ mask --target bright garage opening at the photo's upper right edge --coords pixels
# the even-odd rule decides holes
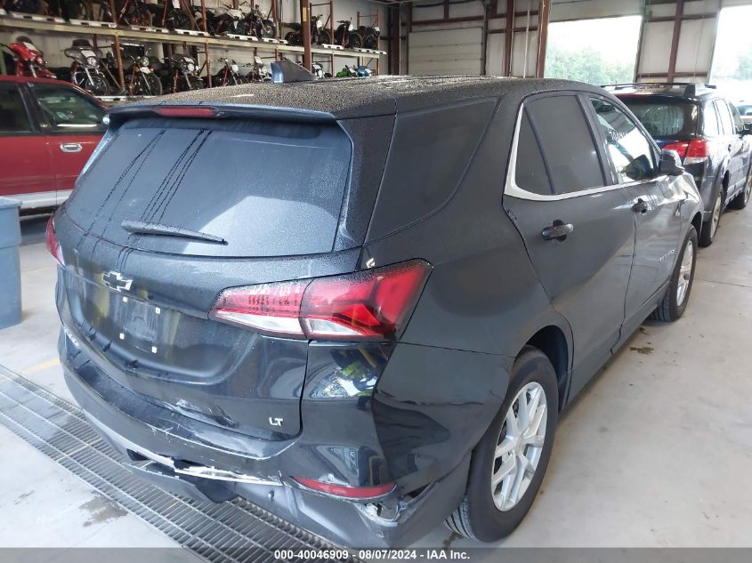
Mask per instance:
[[[752,6],[724,8],[718,16],[711,82],[731,101],[752,104]]]

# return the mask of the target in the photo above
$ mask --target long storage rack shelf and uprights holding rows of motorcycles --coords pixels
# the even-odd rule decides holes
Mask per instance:
[[[113,14],[113,18],[117,18],[118,12],[115,11],[114,0],[102,0],[102,2],[110,3],[110,10]],[[201,10],[206,11],[206,5],[204,0],[201,0]],[[238,4],[238,0],[233,0],[233,5]],[[308,4],[307,0],[301,0],[301,4]],[[333,6],[329,2],[330,9],[330,29],[332,34],[332,40],[334,40],[334,17]],[[272,3],[272,6],[274,3]],[[305,5],[306,12],[310,12],[310,6]],[[276,15],[276,14],[272,14]],[[304,14],[303,26],[310,25],[308,13]],[[360,15],[360,14],[359,14]],[[192,18],[192,13],[190,14]],[[203,18],[206,22],[206,17]],[[279,30],[279,21],[275,19]],[[205,24],[206,25],[206,24]],[[311,45],[310,34],[303,34],[303,46],[287,44],[286,41],[277,38],[264,37],[258,39],[255,36],[212,36],[207,31],[195,30],[195,29],[167,29],[157,26],[141,27],[141,26],[122,26],[116,23],[106,21],[93,21],[93,20],[63,20],[52,16],[43,16],[37,14],[19,13],[19,12],[4,12],[0,11],[0,29],[13,31],[13,30],[29,30],[44,33],[54,33],[61,35],[72,36],[93,36],[94,44],[97,43],[97,37],[109,36],[112,37],[115,44],[115,60],[117,63],[117,78],[120,81],[120,85],[125,84],[125,76],[123,69],[123,60],[120,53],[120,40],[141,40],[150,43],[161,43],[166,46],[167,49],[170,45],[183,44],[184,46],[193,45],[195,47],[202,47],[203,54],[205,56],[204,67],[206,67],[208,81],[211,84],[211,47],[225,48],[225,49],[248,49],[253,55],[258,52],[271,52],[273,58],[279,60],[279,57],[284,54],[292,54],[303,57],[303,64],[307,68],[311,68],[312,55],[328,55],[331,57],[331,69],[332,74],[335,74],[334,57],[352,57],[357,60],[357,64],[368,64],[365,60],[376,59],[376,74],[378,74],[379,60],[382,55],[385,55],[385,51],[375,49],[344,49],[340,45]],[[307,43],[307,44],[306,44]],[[187,50],[187,49],[186,49]],[[165,53],[166,55],[169,53]],[[268,57],[264,57],[268,58]]]

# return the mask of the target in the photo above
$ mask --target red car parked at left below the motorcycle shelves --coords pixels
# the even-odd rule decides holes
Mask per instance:
[[[21,213],[61,205],[106,126],[105,107],[73,84],[0,76],[0,196]]]

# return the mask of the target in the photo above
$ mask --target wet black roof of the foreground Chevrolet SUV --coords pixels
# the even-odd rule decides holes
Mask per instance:
[[[242,109],[294,110],[302,115],[346,119],[393,115],[406,111],[434,109],[461,101],[481,100],[535,92],[576,90],[603,93],[590,84],[543,78],[498,76],[372,76],[332,78],[289,84],[254,83],[180,92],[112,110],[135,113],[161,105],[233,106]]]

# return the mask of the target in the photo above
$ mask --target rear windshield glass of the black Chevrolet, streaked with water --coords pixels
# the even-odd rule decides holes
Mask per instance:
[[[336,125],[139,119],[112,134],[67,206],[94,235],[209,256],[332,250],[351,143]],[[126,231],[186,229],[226,244]]]

